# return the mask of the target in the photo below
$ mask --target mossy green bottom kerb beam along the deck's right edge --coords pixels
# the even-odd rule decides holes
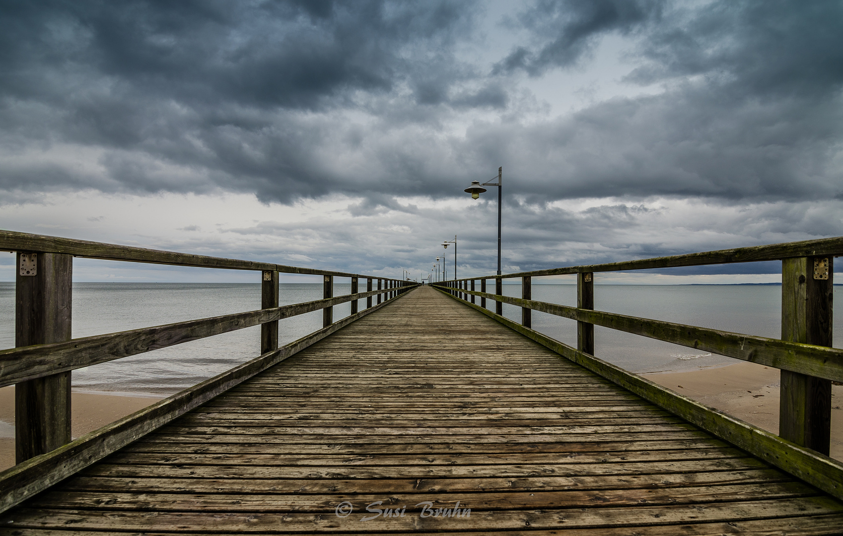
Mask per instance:
[[[464,300],[460,303],[480,310],[481,313],[518,331],[522,335],[526,335],[542,346],[556,351],[556,353],[566,359],[576,362],[594,373],[598,373],[604,378],[620,385],[620,387],[629,389],[632,393],[642,396],[643,399],[647,399],[653,404],[675,415],[679,415],[696,426],[710,431],[717,437],[722,437],[722,439],[733,443],[738,448],[743,448],[749,453],[797,476],[797,478],[817,486],[820,490],[824,490],[831,496],[843,499],[843,463],[839,460],[816,453],[811,449],[800,447],[757,426],[750,425],[731,415],[726,415],[721,411],[702,405],[693,399],[675,393],[670,389],[663,388],[657,383],[641,378],[636,374],[628,373],[609,362],[605,362],[582,351],[577,351],[571,346],[551,339],[547,335],[524,328],[524,326],[500,315],[491,314],[491,311],[478,308],[476,305],[472,305]]]

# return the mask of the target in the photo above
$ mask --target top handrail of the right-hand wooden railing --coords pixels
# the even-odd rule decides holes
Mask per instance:
[[[595,271],[652,270],[654,268],[678,268],[680,266],[727,265],[739,262],[761,262],[782,260],[793,257],[840,256],[843,255],[843,237],[830,239],[803,240],[749,246],[745,248],[717,249],[668,257],[650,259],[623,260],[600,265],[577,265],[549,268],[547,270],[519,271],[502,276],[475,276],[448,281],[471,281],[478,279],[512,279],[514,277],[562,276],[566,274],[588,273]],[[439,281],[440,283],[448,281]]]

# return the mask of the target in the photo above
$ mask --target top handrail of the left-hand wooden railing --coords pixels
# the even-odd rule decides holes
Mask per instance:
[[[194,266],[224,270],[280,271],[285,274],[311,276],[359,277],[363,279],[386,279],[390,277],[352,274],[345,271],[319,270],[300,266],[278,265],[255,260],[226,259],[208,255],[194,255],[167,251],[164,249],[137,248],[120,244],[106,244],[89,240],[65,239],[45,234],[19,233],[0,230],[0,251],[27,251],[37,253],[60,253],[87,259],[122,260],[155,265]]]

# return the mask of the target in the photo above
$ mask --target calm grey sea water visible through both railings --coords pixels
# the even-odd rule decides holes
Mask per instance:
[[[519,285],[504,285],[520,296]],[[837,287],[835,287],[836,292]],[[337,284],[334,295],[351,292]],[[573,285],[534,285],[534,299],[575,305]],[[301,303],[322,296],[321,284],[282,284],[280,303]],[[361,302],[361,306],[364,305]],[[597,285],[595,308],[620,314],[693,324],[766,337],[780,336],[781,287],[762,285]],[[493,303],[490,307],[493,307]],[[73,337],[132,330],[181,320],[260,308],[260,285],[213,283],[74,283]],[[351,304],[334,308],[334,318]],[[520,309],[504,304],[503,313],[520,320]],[[287,343],[319,329],[320,311],[281,321],[279,340]],[[533,327],[576,346],[576,323],[533,312]],[[835,318],[835,346],[843,337],[843,314]],[[722,366],[735,360],[658,340],[595,328],[595,353],[636,373],[686,371]],[[0,348],[14,346],[14,283],[0,282]],[[257,356],[260,327],[194,340],[139,356],[101,363],[73,372],[77,389],[174,393]]]

